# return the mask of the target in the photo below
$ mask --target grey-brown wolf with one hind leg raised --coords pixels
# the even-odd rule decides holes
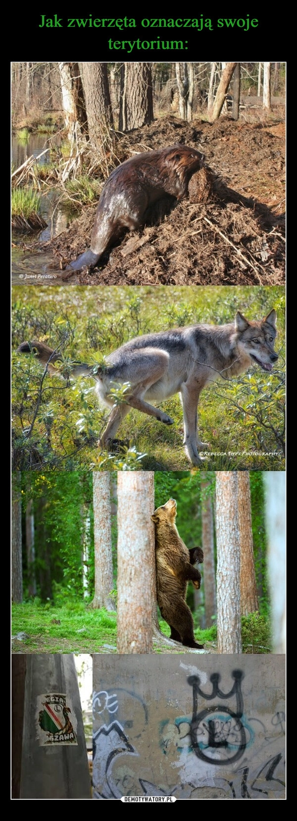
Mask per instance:
[[[277,314],[274,309],[257,321],[245,319],[236,312],[233,323],[226,325],[197,324],[147,333],[125,342],[106,356],[106,365],[74,363],[71,377],[92,376],[96,380],[97,396],[111,413],[99,444],[110,449],[119,424],[130,408],[141,410],[164,424],[173,424],[171,417],[151,405],[179,393],[182,399],[184,442],[187,458],[200,467],[205,457],[200,451],[209,447],[200,441],[197,432],[197,406],[200,392],[207,383],[218,378],[230,379],[244,373],[250,365],[259,365],[266,373],[272,371],[278,355],[274,351],[277,336]],[[22,342],[20,353],[34,351],[42,365],[57,373],[55,363],[61,355],[43,342]],[[124,401],[115,405],[112,388],[126,385]]]

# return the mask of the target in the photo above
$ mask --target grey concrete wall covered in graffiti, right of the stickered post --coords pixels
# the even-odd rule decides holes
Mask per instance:
[[[94,798],[285,798],[285,656],[93,658]]]

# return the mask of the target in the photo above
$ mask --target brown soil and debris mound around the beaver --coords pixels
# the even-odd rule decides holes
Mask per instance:
[[[119,137],[116,154],[123,162],[177,143],[205,154],[206,168],[192,177],[189,197],[159,207],[153,224],[126,234],[92,273],[74,274],[73,284],[284,284],[285,123],[229,117],[187,123],[170,116]],[[88,249],[95,211],[84,210],[43,244],[60,267]]]

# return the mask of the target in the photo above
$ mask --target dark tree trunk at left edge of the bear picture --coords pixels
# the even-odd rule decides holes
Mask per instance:
[[[12,475],[11,504],[11,597],[13,602],[23,600],[23,571],[21,557],[21,496],[20,471]]]

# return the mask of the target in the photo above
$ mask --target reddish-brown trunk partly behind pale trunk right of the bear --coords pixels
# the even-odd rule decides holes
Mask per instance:
[[[238,526],[241,542],[241,616],[259,610],[256,576],[254,572],[254,545],[250,508],[250,474],[248,470],[237,473]]]

